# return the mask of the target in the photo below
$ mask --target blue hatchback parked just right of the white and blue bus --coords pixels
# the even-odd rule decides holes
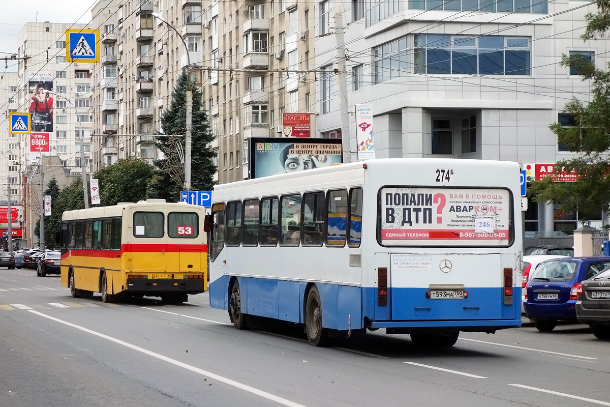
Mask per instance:
[[[552,331],[558,320],[576,321],[581,281],[608,265],[610,257],[558,258],[540,263],[525,287],[525,314],[542,332]]]

